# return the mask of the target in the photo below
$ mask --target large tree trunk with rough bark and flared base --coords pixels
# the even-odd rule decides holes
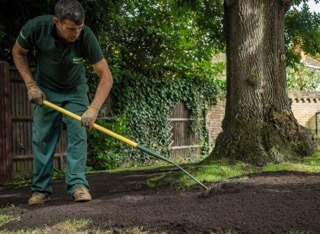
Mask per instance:
[[[284,16],[288,0],[225,0],[227,103],[223,132],[204,161],[229,158],[256,165],[314,152],[298,124],[286,87]]]

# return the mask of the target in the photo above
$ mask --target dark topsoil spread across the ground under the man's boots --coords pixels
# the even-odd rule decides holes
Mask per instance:
[[[20,216],[1,230],[53,226],[63,220],[91,219],[100,230],[144,227],[153,233],[320,233],[320,174],[253,174],[248,180],[204,189],[143,183],[159,171],[98,173],[87,176],[93,200],[75,203],[64,179],[53,182],[44,205],[28,206],[30,185],[0,186],[0,214]],[[211,186],[210,184],[207,184]]]

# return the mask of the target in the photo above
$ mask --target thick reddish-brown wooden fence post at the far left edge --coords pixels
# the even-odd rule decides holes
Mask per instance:
[[[0,61],[0,184],[12,179],[12,131],[9,63]]]

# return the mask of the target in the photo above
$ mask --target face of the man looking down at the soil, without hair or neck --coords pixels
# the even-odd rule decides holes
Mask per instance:
[[[70,20],[60,21],[54,18],[54,22],[57,26],[57,33],[60,37],[65,39],[67,42],[74,42],[80,35],[83,25],[76,25]]]

